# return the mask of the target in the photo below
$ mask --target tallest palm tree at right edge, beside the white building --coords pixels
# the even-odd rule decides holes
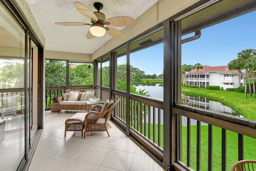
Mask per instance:
[[[246,62],[244,63],[245,64],[244,69],[246,71],[246,76],[248,77],[250,96],[252,96],[252,88],[251,88],[251,84],[250,84],[250,77],[249,77],[250,67],[248,66],[248,64],[249,64],[248,60],[250,59],[250,57],[252,57],[254,55],[256,55],[255,49],[245,49],[237,54],[238,58],[243,58],[246,60]]]

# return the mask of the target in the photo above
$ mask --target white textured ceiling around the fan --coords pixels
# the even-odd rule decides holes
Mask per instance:
[[[58,26],[56,22],[86,22],[90,19],[81,14],[72,0],[36,0],[29,4],[32,13],[45,37],[45,50],[92,54],[112,37],[87,39],[90,26]],[[97,11],[93,4],[100,2],[104,6],[100,12],[106,19],[116,16],[138,18],[158,0],[80,0],[92,12]],[[115,27],[122,30],[124,27]]]

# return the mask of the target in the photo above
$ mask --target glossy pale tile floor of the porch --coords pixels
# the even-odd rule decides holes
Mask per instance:
[[[106,132],[67,132],[70,112],[45,112],[45,126],[28,171],[164,171],[136,143],[111,123]]]

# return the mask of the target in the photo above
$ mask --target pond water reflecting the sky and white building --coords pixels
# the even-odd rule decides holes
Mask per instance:
[[[163,100],[164,98],[164,88],[162,84],[156,84],[156,85],[139,85],[135,86],[136,91],[139,89],[145,89],[145,91],[148,91],[148,94],[152,98]],[[200,96],[189,96],[188,94],[182,94],[182,104],[193,106],[196,108],[206,109],[206,110],[212,110],[214,112],[220,112],[223,114],[230,114],[233,116],[239,116],[243,117],[242,115],[239,115],[235,110],[232,108],[223,105],[220,102],[216,102],[214,100],[210,100],[205,97]],[[151,108],[151,113],[153,112],[153,107]],[[160,110],[161,113],[161,124],[163,124],[163,110]],[[148,118],[147,118],[148,119]],[[153,116],[151,116],[151,121],[153,120]],[[156,123],[158,123],[158,110],[156,110]],[[207,125],[205,123],[201,123],[202,125]],[[187,125],[187,119],[186,117],[182,116],[182,125]],[[191,119],[191,125],[196,125],[196,120]]]

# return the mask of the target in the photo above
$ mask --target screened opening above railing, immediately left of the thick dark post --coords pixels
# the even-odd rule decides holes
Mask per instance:
[[[130,44],[130,92],[163,99],[163,30]]]

